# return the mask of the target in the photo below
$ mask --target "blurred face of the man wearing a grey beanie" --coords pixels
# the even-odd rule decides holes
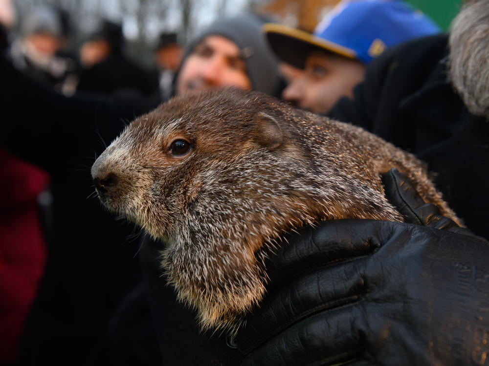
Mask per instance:
[[[216,86],[251,89],[251,81],[238,46],[222,36],[208,36],[183,61],[177,94]]]

